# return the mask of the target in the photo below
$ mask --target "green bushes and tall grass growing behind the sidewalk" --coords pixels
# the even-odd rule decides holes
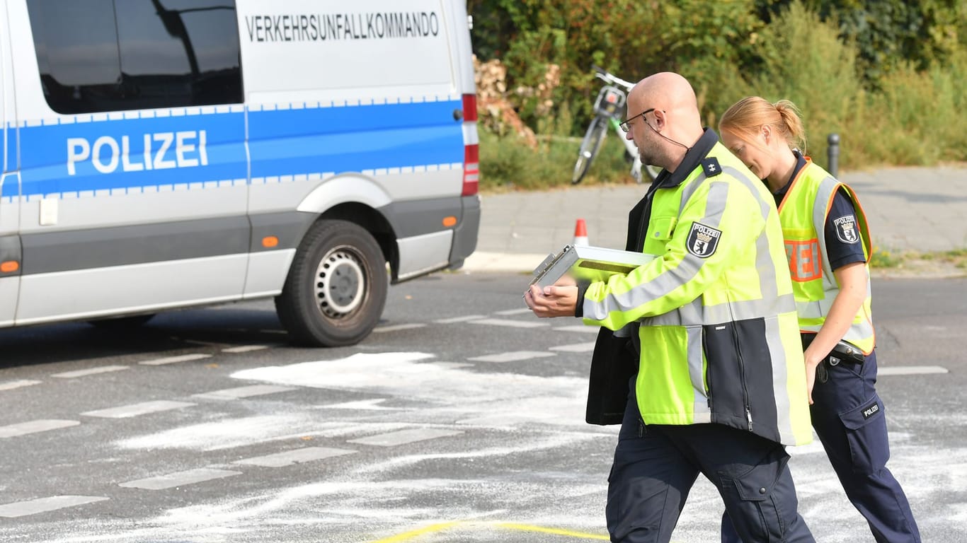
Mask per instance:
[[[904,7],[891,11],[886,4]],[[864,26],[862,3],[854,0],[470,0],[468,6],[482,29],[495,29],[483,43],[505,60],[508,99],[541,141],[531,150],[513,136],[482,130],[486,189],[570,183],[601,86],[592,63],[630,80],[679,71],[710,127],[749,95],[793,100],[803,112],[807,152],[821,165],[832,132],[840,136],[841,169],[967,159],[967,0],[885,0],[869,14],[874,27]],[[925,26],[884,26],[911,21]],[[898,41],[891,50],[902,54],[877,61],[871,43],[891,36]],[[561,69],[550,107],[546,93],[533,92],[548,63]],[[623,151],[609,134],[584,183],[630,183]]]

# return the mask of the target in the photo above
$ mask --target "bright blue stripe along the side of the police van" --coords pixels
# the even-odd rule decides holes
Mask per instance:
[[[249,111],[249,152],[252,177],[306,173],[342,173],[376,168],[450,164],[463,160],[461,124],[454,121],[459,100],[423,103],[309,107]],[[139,189],[145,186],[247,179],[249,168],[243,137],[245,113],[209,113],[20,128],[22,194]],[[84,116],[78,117],[84,119]],[[208,163],[200,165],[200,131],[205,131]],[[152,165],[178,165],[174,146],[155,157],[164,138],[179,131],[194,149],[182,153],[182,165],[167,169],[144,166],[144,134],[151,134]],[[97,144],[99,138],[101,145]],[[69,146],[70,138],[80,138]],[[161,139],[158,139],[161,138]],[[92,157],[80,159],[83,147]],[[127,140],[127,143],[125,143]],[[125,145],[129,159],[113,158]],[[72,153],[74,174],[68,168]],[[197,161],[199,165],[189,165]],[[140,168],[138,171],[135,169]],[[5,184],[6,185],[6,184]],[[16,195],[15,187],[10,195]],[[3,187],[8,195],[8,187]]]

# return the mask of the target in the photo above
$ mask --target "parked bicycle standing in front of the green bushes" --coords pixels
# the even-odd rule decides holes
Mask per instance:
[[[634,83],[626,81],[613,73],[609,73],[598,66],[592,66],[595,77],[604,81],[604,86],[598,92],[595,100],[595,118],[584,132],[584,139],[581,140],[581,148],[578,151],[577,162],[574,163],[574,175],[571,177],[571,185],[577,185],[584,179],[591,167],[592,160],[598,156],[601,150],[601,143],[607,134],[607,129],[614,129],[615,133],[625,145],[625,157],[631,161],[631,177],[637,183],[642,182],[642,170],[649,177],[649,183],[658,177],[660,168],[652,165],[645,165],[642,168],[641,158],[638,157],[638,148],[634,142],[625,137],[622,131],[621,122],[625,116],[625,102],[628,100],[628,93]]]

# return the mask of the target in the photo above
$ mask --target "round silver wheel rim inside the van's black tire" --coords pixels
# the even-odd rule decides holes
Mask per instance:
[[[366,273],[359,255],[348,246],[335,247],[315,271],[315,298],[322,314],[338,319],[363,303]]]

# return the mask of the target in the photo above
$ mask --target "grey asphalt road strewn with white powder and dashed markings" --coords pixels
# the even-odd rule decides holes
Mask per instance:
[[[583,422],[594,329],[526,277],[397,285],[360,345],[289,346],[271,302],[140,329],[0,330],[0,540],[606,540],[616,428]],[[923,540],[965,539],[967,279],[874,281],[890,468]],[[818,443],[791,448],[818,540],[872,541]],[[675,531],[718,540],[700,479]]]

